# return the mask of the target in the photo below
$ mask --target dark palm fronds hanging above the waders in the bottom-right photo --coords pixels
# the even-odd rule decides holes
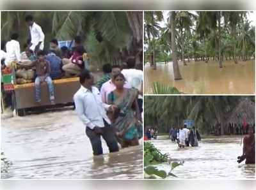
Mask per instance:
[[[231,115],[248,115],[246,121],[255,122],[255,99],[250,96],[146,96],[144,106],[145,128],[154,126],[159,133],[168,133],[171,126],[179,127],[185,119],[195,120],[195,126],[200,133],[214,134],[215,128],[227,128]],[[253,106],[244,106],[241,103],[251,103]],[[240,114],[241,113],[241,114]],[[237,118],[237,117],[236,117]],[[243,121],[237,118],[236,123]]]

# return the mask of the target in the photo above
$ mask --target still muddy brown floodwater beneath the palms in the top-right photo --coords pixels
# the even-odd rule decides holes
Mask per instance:
[[[224,61],[223,68],[218,62],[205,63],[187,62],[183,66],[179,62],[182,80],[174,80],[172,62],[157,63],[157,69],[144,67],[145,94],[152,94],[153,82],[163,82],[168,86],[177,87],[185,94],[254,94],[255,93],[255,63],[254,61]]]

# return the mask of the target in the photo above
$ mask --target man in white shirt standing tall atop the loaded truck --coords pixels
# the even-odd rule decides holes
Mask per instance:
[[[31,38],[29,49],[31,49],[36,54],[38,50],[44,50],[45,35],[42,31],[42,28],[34,22],[34,18],[32,15],[27,15],[25,20],[29,25],[29,32]]]

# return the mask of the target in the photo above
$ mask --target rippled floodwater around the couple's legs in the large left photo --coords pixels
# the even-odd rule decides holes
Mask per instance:
[[[2,119],[1,151],[13,165],[2,179],[141,179],[140,145],[92,155],[85,128],[73,110]]]

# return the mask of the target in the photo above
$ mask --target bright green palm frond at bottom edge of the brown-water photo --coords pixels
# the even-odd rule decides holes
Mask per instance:
[[[176,87],[169,87],[168,85],[160,82],[154,82],[153,84],[154,94],[181,94]]]

